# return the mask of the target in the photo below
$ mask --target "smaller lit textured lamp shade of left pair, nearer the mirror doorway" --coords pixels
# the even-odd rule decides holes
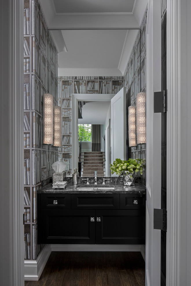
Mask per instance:
[[[62,141],[61,107],[54,106],[54,146],[61,147]]]

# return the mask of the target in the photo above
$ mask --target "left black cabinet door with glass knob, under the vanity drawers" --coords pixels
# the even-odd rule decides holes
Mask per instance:
[[[95,210],[41,210],[40,243],[95,244]]]

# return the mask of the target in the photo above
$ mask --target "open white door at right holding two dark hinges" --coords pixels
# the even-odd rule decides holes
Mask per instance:
[[[161,91],[161,1],[150,0],[146,35],[146,286],[159,286],[161,231],[153,229],[153,209],[161,208],[161,114],[153,94]]]

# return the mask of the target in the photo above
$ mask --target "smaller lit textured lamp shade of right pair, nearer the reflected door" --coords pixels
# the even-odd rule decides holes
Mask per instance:
[[[136,123],[135,123],[135,106],[128,107],[128,133],[129,133],[129,147],[137,146],[136,143]]]

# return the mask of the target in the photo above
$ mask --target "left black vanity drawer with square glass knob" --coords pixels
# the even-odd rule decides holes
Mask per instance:
[[[71,209],[71,194],[41,194],[41,209]]]

